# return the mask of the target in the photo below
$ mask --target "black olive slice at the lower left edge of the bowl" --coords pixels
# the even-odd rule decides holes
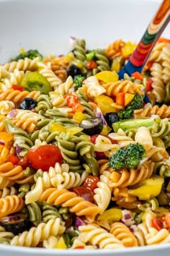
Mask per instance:
[[[6,231],[12,232],[15,235],[30,229],[30,221],[27,219],[27,214],[23,213],[0,218],[0,223]]]

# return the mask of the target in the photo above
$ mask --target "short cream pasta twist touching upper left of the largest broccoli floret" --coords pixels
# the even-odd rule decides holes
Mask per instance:
[[[120,148],[120,145],[112,144],[109,138],[99,135],[95,141],[95,150],[98,152],[104,152],[104,155],[111,157],[112,153]]]

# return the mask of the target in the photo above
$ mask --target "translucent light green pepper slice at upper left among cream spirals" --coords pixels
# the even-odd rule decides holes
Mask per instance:
[[[29,92],[40,90],[40,93],[48,94],[52,90],[48,80],[37,71],[25,73],[20,85]]]

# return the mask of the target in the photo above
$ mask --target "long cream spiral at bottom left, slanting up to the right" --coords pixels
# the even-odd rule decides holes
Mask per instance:
[[[37,227],[32,227],[29,231],[24,231],[19,236],[14,236],[11,245],[36,247],[37,244],[49,236],[57,236],[63,234],[65,227],[60,218],[54,218],[47,223],[40,223]]]

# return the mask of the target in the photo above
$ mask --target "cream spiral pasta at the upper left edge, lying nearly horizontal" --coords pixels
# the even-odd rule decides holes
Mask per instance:
[[[23,71],[35,71],[37,70],[37,62],[40,61],[39,57],[35,59],[19,59],[19,61],[12,61],[10,63],[6,63],[4,65],[1,65],[3,69],[14,72],[14,69],[23,70]]]

